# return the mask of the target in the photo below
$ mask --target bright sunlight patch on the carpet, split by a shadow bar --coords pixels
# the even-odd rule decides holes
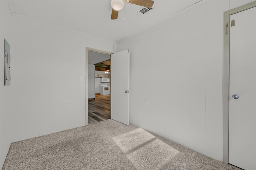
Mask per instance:
[[[169,162],[178,150],[142,128],[112,138],[137,170],[158,170]]]

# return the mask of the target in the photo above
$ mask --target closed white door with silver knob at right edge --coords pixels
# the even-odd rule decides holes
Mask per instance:
[[[229,163],[246,170],[256,170],[255,16],[256,7],[230,16]]]

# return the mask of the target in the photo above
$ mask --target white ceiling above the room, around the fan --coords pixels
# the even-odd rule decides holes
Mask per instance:
[[[153,10],[143,16],[134,12],[144,7],[124,2],[117,20],[110,19],[110,1],[9,0],[9,4],[13,13],[118,42],[201,0],[154,0]]]

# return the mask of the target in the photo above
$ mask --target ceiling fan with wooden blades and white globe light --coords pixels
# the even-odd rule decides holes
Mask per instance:
[[[128,3],[144,6],[147,8],[151,8],[154,4],[152,0],[125,0]],[[112,7],[111,20],[116,20],[118,17],[118,11],[124,8],[123,0],[111,0],[110,2]]]

